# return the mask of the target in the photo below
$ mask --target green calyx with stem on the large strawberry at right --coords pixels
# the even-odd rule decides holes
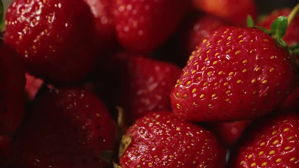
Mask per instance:
[[[285,35],[288,26],[290,25],[290,23],[293,21],[293,19],[295,18],[295,16],[298,13],[299,13],[299,4],[297,4],[293,8],[291,13],[287,17],[286,16],[277,17],[271,24],[270,30],[268,30],[264,27],[256,26],[254,24],[252,17],[249,15],[247,17],[247,26],[258,28],[258,29],[264,31],[265,33],[269,34],[270,36],[272,36],[272,38],[275,40],[276,44],[279,47],[286,49],[292,57],[293,55],[299,54],[299,44],[296,44],[293,46],[288,46],[287,43],[282,38]],[[295,60],[295,59],[293,58],[293,60]]]

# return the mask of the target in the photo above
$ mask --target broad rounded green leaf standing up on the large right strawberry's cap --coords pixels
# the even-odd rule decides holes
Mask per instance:
[[[279,16],[271,25],[271,35],[282,38],[287,29],[287,17]]]

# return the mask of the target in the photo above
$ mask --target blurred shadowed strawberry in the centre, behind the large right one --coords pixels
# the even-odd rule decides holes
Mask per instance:
[[[117,86],[108,83],[111,89],[107,91],[115,91],[113,96],[120,98],[118,105],[129,114],[132,122],[148,112],[171,110],[170,92],[181,68],[167,62],[129,54],[116,55],[108,66],[109,75],[115,72],[111,75],[115,79],[108,81],[115,81]],[[105,97],[107,95],[105,94]]]

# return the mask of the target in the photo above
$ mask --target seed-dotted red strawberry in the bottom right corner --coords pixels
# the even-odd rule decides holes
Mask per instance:
[[[255,123],[245,132],[230,167],[298,167],[298,128],[298,114],[281,114]]]

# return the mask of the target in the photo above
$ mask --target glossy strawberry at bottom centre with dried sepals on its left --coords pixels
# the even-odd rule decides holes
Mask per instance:
[[[168,111],[137,119],[124,137],[123,144],[131,143],[119,158],[122,167],[225,167],[226,150],[213,134]]]

